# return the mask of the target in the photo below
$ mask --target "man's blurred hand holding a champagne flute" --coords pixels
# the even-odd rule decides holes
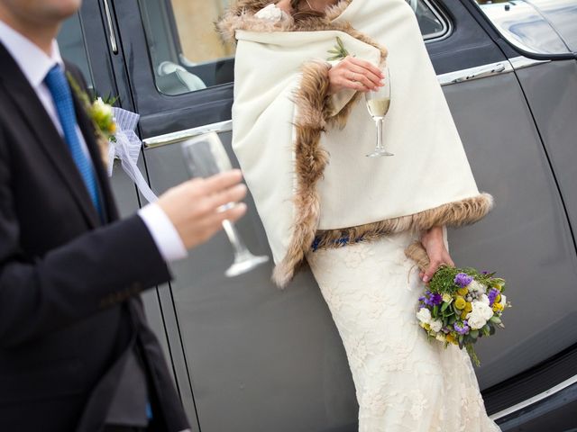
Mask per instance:
[[[222,229],[223,220],[238,220],[246,212],[243,202],[220,211],[246,195],[243,175],[235,169],[208,178],[188,180],[163,193],[157,204],[179,232],[185,247],[196,247]]]

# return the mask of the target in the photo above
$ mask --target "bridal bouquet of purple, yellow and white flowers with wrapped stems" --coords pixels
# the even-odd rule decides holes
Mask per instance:
[[[408,257],[423,267],[418,249],[408,249]],[[480,365],[473,344],[493,335],[497,328],[505,328],[501,316],[510,307],[505,288],[505,280],[494,273],[440,266],[418,299],[417,320],[429,338],[443,342],[444,347],[466,348],[472,361]]]

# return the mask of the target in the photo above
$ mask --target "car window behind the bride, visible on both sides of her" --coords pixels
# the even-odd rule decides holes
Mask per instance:
[[[449,33],[449,21],[430,0],[407,1],[425,40]],[[234,81],[234,47],[215,31],[215,21],[229,4],[231,0],[139,0],[160,93],[185,94]]]

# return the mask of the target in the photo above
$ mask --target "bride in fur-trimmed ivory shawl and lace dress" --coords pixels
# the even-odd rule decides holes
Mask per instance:
[[[479,193],[405,0],[239,0],[233,148],[270,242],[273,280],[307,262],[353,374],[362,432],[499,431],[463,350],[427,341],[417,298],[453,266],[447,226],[481,220]],[[328,61],[335,47],[342,56]],[[388,66],[389,76],[382,67]],[[384,140],[362,96],[392,85]],[[405,256],[414,241],[430,266]]]

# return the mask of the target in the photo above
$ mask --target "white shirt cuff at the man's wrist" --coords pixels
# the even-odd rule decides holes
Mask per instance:
[[[142,207],[138,215],[150,231],[164,261],[169,263],[188,257],[187,248],[179,236],[179,231],[174,228],[169,217],[158,204],[152,202]]]

